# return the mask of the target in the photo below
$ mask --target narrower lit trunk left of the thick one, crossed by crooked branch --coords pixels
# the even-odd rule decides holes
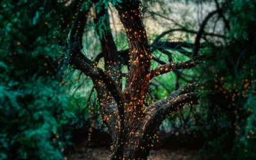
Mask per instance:
[[[95,2],[97,3],[98,1]],[[102,20],[103,24],[105,25],[104,28],[96,28],[100,38],[102,56],[105,62],[105,72],[113,78],[116,84],[118,84],[116,88],[120,88],[122,86],[122,65],[116,49],[113,35],[111,33],[108,10],[102,6],[102,9],[99,12],[95,12],[95,14],[96,17],[94,22],[96,26],[100,23],[100,20]],[[122,126],[124,126],[124,121],[121,120],[122,115],[124,115],[124,108],[122,108],[124,97],[122,95],[122,99],[120,99],[119,102],[116,102],[104,83],[102,83],[101,86],[99,86],[99,84],[96,82],[93,83],[95,86],[97,86],[97,94],[100,102],[102,120],[104,121],[104,124],[108,126],[108,129],[111,132],[111,138],[113,140],[112,150],[113,152],[118,152],[117,148],[122,140],[120,129]]]

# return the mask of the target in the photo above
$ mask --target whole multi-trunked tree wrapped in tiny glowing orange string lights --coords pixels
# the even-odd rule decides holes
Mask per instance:
[[[161,67],[150,70],[151,52],[157,48],[157,45],[159,46],[161,37],[173,31],[186,29],[167,31],[158,36],[150,46],[142,22],[140,1],[112,1],[112,3],[118,10],[120,21],[124,26],[129,42],[129,51],[117,51],[109,26],[108,11],[104,3],[89,1],[81,4],[81,9],[76,13],[70,29],[67,42],[68,63],[91,77],[93,81],[100,103],[102,120],[108,127],[113,140],[111,159],[147,159],[159,125],[173,111],[179,110],[184,104],[195,102],[197,96],[195,88],[198,86],[198,83],[188,84],[166,99],[146,106],[145,97],[150,79],[167,72],[192,68],[201,63],[202,57],[198,56],[200,38],[204,33],[207,20],[217,12],[211,12],[205,18],[196,36],[195,44],[192,44],[191,60],[176,63],[170,61]],[[98,29],[98,34],[102,49],[100,56],[104,58],[105,70],[97,67],[97,61],[89,60],[81,52],[83,32],[86,28],[86,14],[92,4],[100,7],[100,10],[96,11],[95,23],[102,20],[104,24],[103,28]],[[166,44],[179,45],[179,43],[172,42]],[[123,74],[121,69],[124,64],[129,64],[129,72],[125,76],[125,88],[122,90]]]

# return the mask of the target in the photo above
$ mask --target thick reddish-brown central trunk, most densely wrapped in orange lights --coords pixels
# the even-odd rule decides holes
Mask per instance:
[[[149,153],[148,133],[143,121],[144,97],[149,83],[152,58],[147,35],[141,20],[140,3],[130,1],[117,7],[118,14],[128,37],[131,70],[125,85],[124,115],[121,121],[120,143],[113,146],[112,159],[147,159]],[[115,144],[115,143],[114,143]]]

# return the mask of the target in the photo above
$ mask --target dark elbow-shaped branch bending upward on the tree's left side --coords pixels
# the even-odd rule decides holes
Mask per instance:
[[[87,12],[88,10],[89,8],[87,8]],[[72,29],[70,30],[68,40],[68,55],[70,56],[69,64],[72,67],[81,70],[81,72],[83,72],[86,76],[91,77],[93,81],[106,85],[106,88],[108,88],[109,92],[111,92],[111,95],[116,100],[118,106],[122,106],[124,103],[124,95],[118,84],[116,84],[112,77],[104,72],[101,68],[95,67],[95,63],[90,61],[80,51],[82,47],[80,40],[83,36],[83,25],[85,22],[86,16],[82,7],[82,9],[77,13],[72,25]]]

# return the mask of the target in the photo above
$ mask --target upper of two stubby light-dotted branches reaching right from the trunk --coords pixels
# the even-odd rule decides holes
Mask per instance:
[[[195,67],[195,65],[198,65],[200,63],[202,63],[202,56],[192,58],[191,60],[188,60],[188,61],[166,63],[165,65],[162,65],[160,67],[157,67],[157,68],[151,70],[150,71],[150,79],[152,79],[153,77],[162,75],[162,74],[166,74],[168,72],[178,70],[178,69],[193,68],[193,67]]]

